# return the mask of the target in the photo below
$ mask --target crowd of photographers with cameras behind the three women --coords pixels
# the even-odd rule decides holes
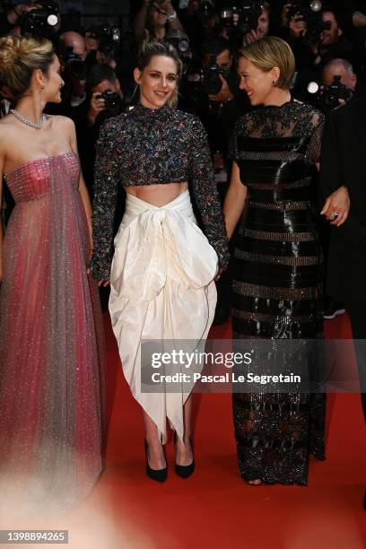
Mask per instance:
[[[57,0],[8,2],[0,13],[1,35],[28,33],[54,42],[65,87],[62,103],[49,105],[48,112],[74,119],[91,195],[94,143],[100,125],[138,99],[132,73],[144,39],[164,39],[179,51],[183,63],[179,109],[196,113],[205,125],[222,198],[230,173],[227,149],[231,131],[250,109],[246,93],[239,89],[235,63],[239,48],[266,34],[288,41],[296,58],[292,96],[326,114],[363,93],[366,3],[142,0],[134,4],[130,30],[125,34],[110,23],[84,29],[80,18],[65,13]],[[0,92],[4,115],[12,98],[4,86]],[[223,277],[218,322],[229,313],[229,287]]]

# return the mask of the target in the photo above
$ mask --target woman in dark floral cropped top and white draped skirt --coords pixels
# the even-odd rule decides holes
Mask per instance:
[[[158,379],[156,388],[150,372],[148,388],[142,387],[141,341],[184,340],[190,350],[203,342],[215,309],[213,279],[229,258],[205,130],[198,118],[174,109],[180,71],[174,48],[144,43],[134,73],[140,103],[102,127],[95,164],[91,270],[99,283],[110,280],[109,310],[123,370],[143,407],[146,472],[158,481],[167,476],[161,446],[167,417],[178,435],[176,471],[193,473],[192,384],[181,383],[178,390]],[[126,189],[126,212],[113,252],[119,184]],[[206,236],[197,227],[189,190]],[[150,356],[149,367],[151,362]],[[185,364],[180,369],[187,372]]]

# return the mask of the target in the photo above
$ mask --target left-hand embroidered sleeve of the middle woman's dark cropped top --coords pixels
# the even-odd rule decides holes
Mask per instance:
[[[119,182],[117,132],[116,118],[109,119],[100,128],[96,145],[92,215],[94,248],[90,268],[97,280],[109,279],[113,257],[113,223]]]

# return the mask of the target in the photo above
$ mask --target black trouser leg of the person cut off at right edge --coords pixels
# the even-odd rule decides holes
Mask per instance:
[[[366,303],[361,301],[346,304],[345,308],[351,320],[354,351],[360,376],[363,416],[366,422]]]

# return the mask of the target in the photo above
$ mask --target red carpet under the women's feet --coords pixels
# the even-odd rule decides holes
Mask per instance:
[[[328,337],[350,337],[345,316],[328,322],[326,330]],[[329,396],[327,460],[311,461],[306,487],[245,484],[237,470],[231,396],[197,396],[196,473],[187,480],[175,475],[170,438],[169,478],[165,484],[157,484],[144,473],[142,415],[120,370],[108,320],[106,332],[110,414],[107,467],[88,505],[99,506],[109,536],[95,547],[366,547],[366,511],[362,510],[366,431],[358,395]],[[214,328],[213,335],[229,338],[229,323]]]

